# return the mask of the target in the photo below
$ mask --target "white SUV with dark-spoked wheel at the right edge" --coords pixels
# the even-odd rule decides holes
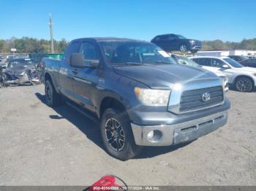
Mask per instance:
[[[256,85],[256,69],[245,67],[225,56],[195,56],[190,57],[203,69],[222,71],[227,76],[227,83],[241,92],[251,92]]]

